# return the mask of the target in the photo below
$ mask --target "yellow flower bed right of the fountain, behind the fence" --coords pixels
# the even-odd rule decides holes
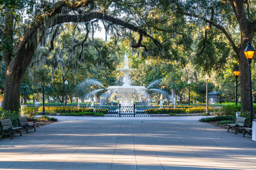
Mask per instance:
[[[185,114],[185,113],[204,113],[204,106],[176,106],[175,108],[156,108],[147,109],[145,114]],[[213,112],[212,107],[208,107],[209,112]]]

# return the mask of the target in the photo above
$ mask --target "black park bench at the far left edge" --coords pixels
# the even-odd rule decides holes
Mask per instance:
[[[13,126],[14,124],[19,124],[20,125],[19,122],[12,123],[11,119],[2,119],[2,120],[0,120],[0,125],[1,125],[1,129],[2,129],[1,139],[2,139],[3,135],[10,135],[11,136],[11,132],[14,133],[14,136],[15,136],[15,132],[19,132],[20,136],[22,136],[21,131],[20,131],[22,126],[20,125],[19,127],[14,127]],[[12,139],[12,136],[11,136],[11,139]]]

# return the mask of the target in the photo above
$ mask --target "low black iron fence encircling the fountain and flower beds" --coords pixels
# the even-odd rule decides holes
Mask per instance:
[[[63,116],[198,116],[221,114],[225,105],[192,106],[43,106],[29,105],[38,108],[39,114]],[[27,107],[27,106],[26,106]],[[24,108],[24,106],[22,107]]]

